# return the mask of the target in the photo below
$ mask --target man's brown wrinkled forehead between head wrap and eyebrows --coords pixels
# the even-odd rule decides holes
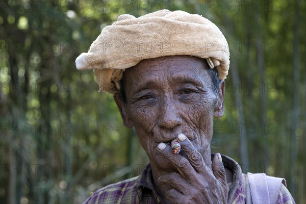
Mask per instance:
[[[184,61],[182,61],[178,57],[165,57],[159,60],[148,59],[127,69],[126,75],[130,75],[129,83],[133,84],[130,91],[138,91],[148,85],[160,86],[161,82],[163,82],[162,79],[166,79],[164,82],[171,86],[182,80],[197,82],[197,84],[201,83],[202,85],[209,81],[207,79],[209,74],[204,71],[208,68],[203,59],[180,56],[180,59],[184,58]]]

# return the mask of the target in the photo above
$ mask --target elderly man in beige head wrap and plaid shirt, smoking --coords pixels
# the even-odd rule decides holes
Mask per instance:
[[[75,62],[114,94],[150,161],[140,176],[85,203],[294,203],[284,179],[245,175],[233,159],[211,155],[230,54],[208,19],[168,10],[121,15]]]

